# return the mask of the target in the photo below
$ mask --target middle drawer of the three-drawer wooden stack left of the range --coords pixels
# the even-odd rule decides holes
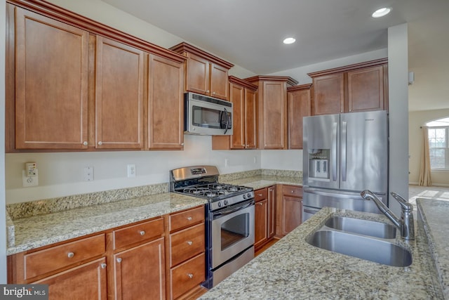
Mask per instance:
[[[199,223],[192,228],[170,235],[170,266],[176,266],[178,263],[204,252],[206,249],[204,230],[204,223]]]

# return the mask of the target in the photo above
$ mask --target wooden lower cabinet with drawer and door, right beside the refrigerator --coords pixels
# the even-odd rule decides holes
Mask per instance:
[[[297,185],[281,186],[281,235],[286,235],[302,223],[302,187]]]

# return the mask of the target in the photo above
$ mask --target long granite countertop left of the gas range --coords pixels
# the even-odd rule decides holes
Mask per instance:
[[[16,254],[202,204],[206,204],[206,200],[161,193],[17,219],[13,221],[14,246],[8,247],[6,254]]]

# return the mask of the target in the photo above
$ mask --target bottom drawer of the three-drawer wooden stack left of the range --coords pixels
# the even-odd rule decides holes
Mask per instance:
[[[206,258],[204,254],[182,263],[170,270],[171,294],[176,299],[189,289],[206,280]]]

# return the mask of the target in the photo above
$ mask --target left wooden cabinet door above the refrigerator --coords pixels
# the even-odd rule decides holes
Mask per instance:
[[[314,78],[312,115],[340,114],[344,110],[343,74],[331,74]]]

